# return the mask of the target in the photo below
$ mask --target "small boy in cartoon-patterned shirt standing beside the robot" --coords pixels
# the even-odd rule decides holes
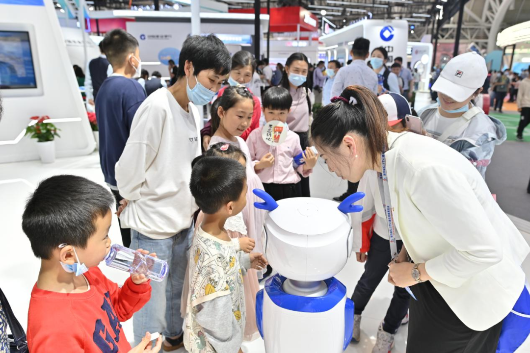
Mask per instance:
[[[267,266],[262,254],[236,251],[224,229],[226,220],[246,205],[245,167],[230,158],[203,157],[196,160],[189,185],[204,219],[190,251],[184,345],[191,353],[241,353],[246,317],[242,276],[249,268]]]

